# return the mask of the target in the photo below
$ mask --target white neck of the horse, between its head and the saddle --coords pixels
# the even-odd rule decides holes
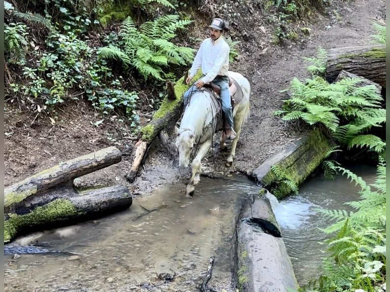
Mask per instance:
[[[197,92],[190,97],[189,104],[184,110],[180,132],[189,130],[193,133],[196,141],[202,138],[204,127],[210,124],[213,116],[216,115],[216,109],[211,98],[209,91]]]

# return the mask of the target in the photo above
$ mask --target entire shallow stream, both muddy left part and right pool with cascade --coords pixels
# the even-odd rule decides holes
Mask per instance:
[[[352,170],[368,183],[375,179],[373,167]],[[61,253],[5,255],[5,291],[198,291],[214,255],[208,287],[232,292],[236,220],[245,195],[260,188],[241,178],[203,178],[193,199],[184,189],[165,185],[135,197],[126,211],[17,239]],[[348,210],[344,202],[357,197],[346,178],[317,177],[299,195],[272,202],[300,285],[318,273],[325,239],[319,228],[330,223],[316,208]]]

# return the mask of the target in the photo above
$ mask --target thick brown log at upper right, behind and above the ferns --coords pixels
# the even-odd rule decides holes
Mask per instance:
[[[385,45],[330,49],[325,70],[326,80],[330,83],[335,81],[341,70],[367,78],[385,88]]]

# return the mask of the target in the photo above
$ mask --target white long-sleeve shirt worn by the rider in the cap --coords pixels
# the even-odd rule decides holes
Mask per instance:
[[[217,75],[228,75],[230,47],[220,36],[214,43],[210,38],[205,39],[193,60],[189,76],[197,74],[202,68],[205,76],[201,79],[204,83],[211,82]]]

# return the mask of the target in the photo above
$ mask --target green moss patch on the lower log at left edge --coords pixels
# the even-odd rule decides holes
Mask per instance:
[[[4,221],[4,242],[11,241],[22,228],[82,214],[70,200],[64,198],[54,200],[25,215],[8,214],[10,218]]]

